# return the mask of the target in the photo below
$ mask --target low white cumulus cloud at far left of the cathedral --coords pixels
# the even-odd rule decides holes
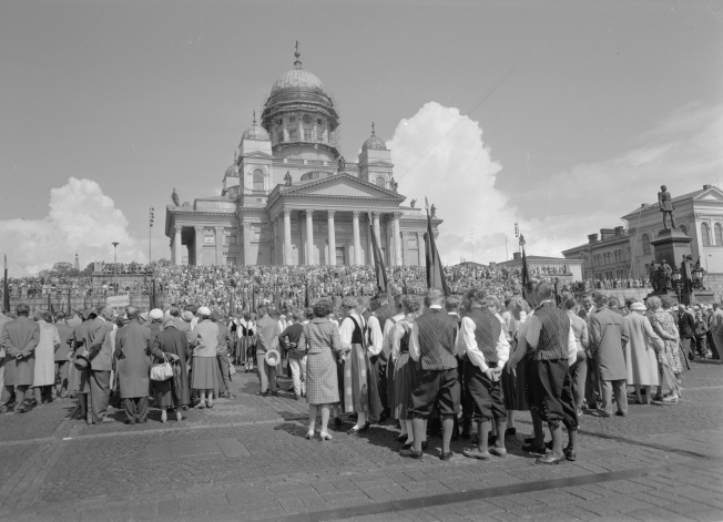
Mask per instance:
[[[72,263],[75,250],[81,268],[93,260],[112,262],[112,242],[121,244],[119,262],[146,262],[123,213],[91,180],[71,177],[52,188],[50,212],[42,219],[0,221],[0,248],[8,255],[11,276],[37,274],[61,260]]]

